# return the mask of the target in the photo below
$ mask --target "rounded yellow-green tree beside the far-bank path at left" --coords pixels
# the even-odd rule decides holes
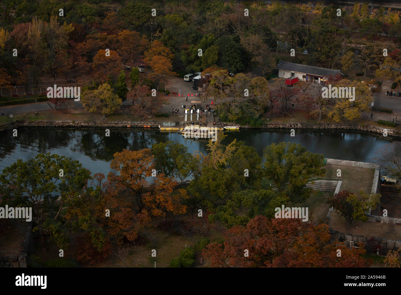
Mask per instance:
[[[81,98],[82,106],[89,112],[100,110],[103,119],[106,114],[112,114],[122,104],[121,98],[117,94],[113,94],[108,83],[100,85],[97,90],[85,90]]]

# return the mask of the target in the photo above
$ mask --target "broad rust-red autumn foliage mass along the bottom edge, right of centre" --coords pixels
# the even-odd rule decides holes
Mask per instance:
[[[212,243],[203,256],[212,267],[366,267],[366,250],[348,250],[338,240],[330,242],[328,226],[311,226],[299,219],[256,216],[247,226],[234,226],[224,243]],[[342,257],[336,256],[341,249]],[[248,250],[248,256],[244,255]],[[346,259],[344,259],[346,257]]]

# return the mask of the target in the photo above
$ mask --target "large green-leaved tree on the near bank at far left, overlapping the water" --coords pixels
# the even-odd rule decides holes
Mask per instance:
[[[68,208],[83,193],[90,178],[89,170],[78,161],[56,154],[38,154],[28,161],[18,159],[3,170],[0,200],[8,205],[32,207],[34,229],[41,233],[44,249],[46,233],[61,234],[56,242],[65,245],[59,216],[63,208]]]

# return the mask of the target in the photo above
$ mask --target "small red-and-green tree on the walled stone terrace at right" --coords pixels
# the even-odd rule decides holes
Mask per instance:
[[[365,212],[371,208],[375,208],[379,202],[381,195],[368,195],[363,191],[359,191],[359,195],[355,195],[350,191],[340,191],[329,197],[328,203],[341,216],[344,216],[349,226],[354,226],[356,220],[367,221],[368,217]]]

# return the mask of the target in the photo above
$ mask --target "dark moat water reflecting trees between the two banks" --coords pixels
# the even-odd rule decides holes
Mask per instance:
[[[12,136],[12,130],[2,133],[0,142],[0,171],[17,159],[27,160],[38,153],[57,153],[78,160],[94,173],[110,171],[110,161],[116,152],[123,149],[139,150],[150,148],[156,142],[172,140],[188,147],[189,153],[206,153],[208,140],[184,138],[177,133],[164,133],[157,129],[121,129],[109,128],[110,136],[105,136],[106,128],[71,129],[71,128],[19,128],[18,136]],[[288,131],[277,130],[241,130],[225,132],[228,144],[235,138],[246,145],[255,147],[262,155],[265,146],[272,142],[296,142],[306,146],[308,151],[321,153],[326,158],[370,162],[374,161],[378,151],[391,140],[383,136],[349,131],[296,130],[294,137]],[[393,144],[401,148],[399,140]]]

